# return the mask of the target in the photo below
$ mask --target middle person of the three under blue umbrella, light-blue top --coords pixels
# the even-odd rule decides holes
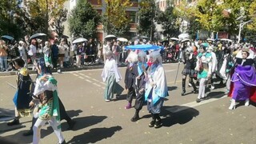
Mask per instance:
[[[135,90],[136,90],[136,100],[135,100],[135,114],[134,117],[130,119],[131,122],[136,122],[139,119],[139,110],[142,110],[143,103],[145,102],[145,74],[148,68],[146,64],[146,53],[144,51],[138,52],[138,75],[135,79]]]

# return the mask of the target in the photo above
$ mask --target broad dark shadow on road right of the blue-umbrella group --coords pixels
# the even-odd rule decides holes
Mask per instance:
[[[199,111],[188,106],[162,106],[162,126],[185,124],[199,115]]]

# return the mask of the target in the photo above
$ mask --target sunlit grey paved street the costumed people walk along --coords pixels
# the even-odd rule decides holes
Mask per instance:
[[[227,98],[225,86],[215,86],[208,90],[209,98],[196,103],[197,94],[182,92],[182,67],[178,71],[178,80],[174,84],[177,63],[164,64],[170,96],[166,98],[162,109],[163,126],[159,129],[148,127],[150,114],[143,107],[138,122],[130,122],[134,108],[126,106],[126,90],[112,102],[105,102],[103,90],[105,84],[100,77],[102,69],[80,70],[54,74],[58,80],[58,92],[66,106],[68,114],[77,122],[74,130],[67,130],[67,123],[62,121],[63,135],[68,143],[256,143],[255,105],[228,110],[230,98]],[[120,68],[124,78],[125,67]],[[10,119],[14,114],[14,88],[16,76],[0,77],[0,119]],[[32,75],[35,78],[35,75]],[[218,83],[218,82],[216,82]],[[124,86],[123,80],[120,82]],[[188,83],[186,82],[186,85]],[[189,93],[192,88],[186,87]],[[21,118],[21,126],[6,126],[0,121],[0,136],[18,143],[32,142],[32,136],[23,137],[29,130],[31,118]],[[42,128],[42,144],[57,143],[50,126]]]

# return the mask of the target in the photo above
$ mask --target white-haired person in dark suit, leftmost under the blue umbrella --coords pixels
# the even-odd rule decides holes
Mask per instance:
[[[135,92],[135,82],[136,77],[138,76],[138,54],[136,53],[130,53],[128,55],[128,65],[126,67],[126,74],[125,74],[125,85],[127,96],[126,100],[128,101],[127,106],[125,106],[125,109],[131,108],[131,103],[133,101],[133,97],[136,96]]]

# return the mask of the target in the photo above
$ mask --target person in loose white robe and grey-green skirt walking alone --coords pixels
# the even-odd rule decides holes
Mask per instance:
[[[114,98],[114,94],[122,94],[122,86],[118,82],[122,79],[122,76],[118,70],[117,63],[113,58],[113,53],[110,50],[106,50],[106,62],[102,71],[102,80],[106,82],[106,88],[104,91],[104,98],[106,102],[110,102]]]

